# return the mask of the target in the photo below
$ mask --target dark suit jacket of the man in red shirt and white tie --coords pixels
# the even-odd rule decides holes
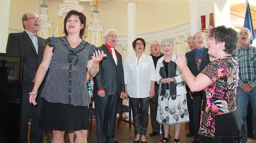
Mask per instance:
[[[121,92],[125,92],[125,84],[123,78],[123,62],[121,54],[116,51],[117,54],[117,65],[112,57],[107,46],[104,44],[96,50],[103,51],[107,54],[107,58],[104,58],[100,62],[100,71],[93,78],[94,90],[93,96],[98,96],[98,89],[104,88],[105,95],[114,95],[117,91],[117,95],[120,96]]]

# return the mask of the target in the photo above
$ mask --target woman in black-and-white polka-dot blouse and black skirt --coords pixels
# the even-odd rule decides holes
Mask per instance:
[[[35,84],[29,93],[29,102],[36,105],[38,88],[47,70],[41,94],[43,97],[39,126],[53,130],[52,143],[64,143],[65,131],[74,131],[75,142],[87,143],[89,129],[88,105],[91,97],[87,89],[86,72],[99,72],[104,53],[81,37],[86,26],[83,13],[71,10],[64,19],[66,36],[50,37],[43,61],[36,72]]]

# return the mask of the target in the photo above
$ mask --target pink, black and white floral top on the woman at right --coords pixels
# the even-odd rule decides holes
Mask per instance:
[[[238,72],[238,60],[232,56],[211,61],[201,72],[213,83],[204,89],[206,94],[201,106],[200,135],[215,137],[216,116],[236,110]]]

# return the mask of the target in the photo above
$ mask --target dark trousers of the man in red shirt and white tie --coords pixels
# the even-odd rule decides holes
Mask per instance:
[[[105,97],[94,96],[98,143],[114,142],[119,99],[117,94]]]

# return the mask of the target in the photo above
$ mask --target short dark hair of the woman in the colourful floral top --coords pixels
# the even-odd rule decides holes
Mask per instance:
[[[237,48],[239,37],[237,31],[233,28],[227,28],[225,25],[213,28],[209,33],[209,38],[214,38],[216,44],[225,42],[225,53],[233,54]]]

